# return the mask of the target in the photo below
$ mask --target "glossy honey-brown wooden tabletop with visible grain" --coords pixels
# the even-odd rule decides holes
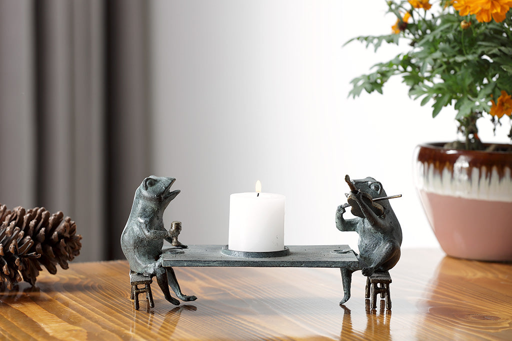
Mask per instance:
[[[369,310],[366,279],[355,272],[352,298],[337,269],[175,268],[195,302],[173,306],[152,285],[155,308],[130,300],[125,261],[72,263],[43,272],[35,288],[0,296],[0,339],[173,340],[510,340],[512,264],[402,250],[392,269],[393,310]]]

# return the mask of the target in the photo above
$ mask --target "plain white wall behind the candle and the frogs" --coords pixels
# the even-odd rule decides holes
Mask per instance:
[[[182,193],[165,221],[183,222],[183,243],[227,244],[229,195],[259,179],[263,191],[286,196],[285,244],[356,248],[355,232],[334,224],[349,174],[403,195],[392,201],[402,247],[438,245],[414,190],[412,153],[454,139],[455,115],[432,119],[399,79],[383,96],[347,98],[353,77],[399,52],[342,47],[388,33],[396,20],[385,1],[361,4],[153,2],[152,170],[177,178]]]

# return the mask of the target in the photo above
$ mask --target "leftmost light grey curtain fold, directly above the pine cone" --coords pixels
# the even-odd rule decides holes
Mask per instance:
[[[35,205],[33,3],[0,1],[0,203]]]

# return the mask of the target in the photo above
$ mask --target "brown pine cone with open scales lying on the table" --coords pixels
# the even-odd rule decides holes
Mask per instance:
[[[68,261],[80,253],[82,237],[75,234],[75,222],[63,216],[60,211],[51,215],[44,207],[10,211],[0,205],[0,276],[8,289],[22,280],[19,272],[34,285],[41,265],[55,274],[56,264],[67,269]]]

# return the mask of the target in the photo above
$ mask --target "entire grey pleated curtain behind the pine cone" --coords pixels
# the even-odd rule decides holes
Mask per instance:
[[[123,257],[148,175],[147,6],[0,0],[0,202],[70,216],[77,261]]]

